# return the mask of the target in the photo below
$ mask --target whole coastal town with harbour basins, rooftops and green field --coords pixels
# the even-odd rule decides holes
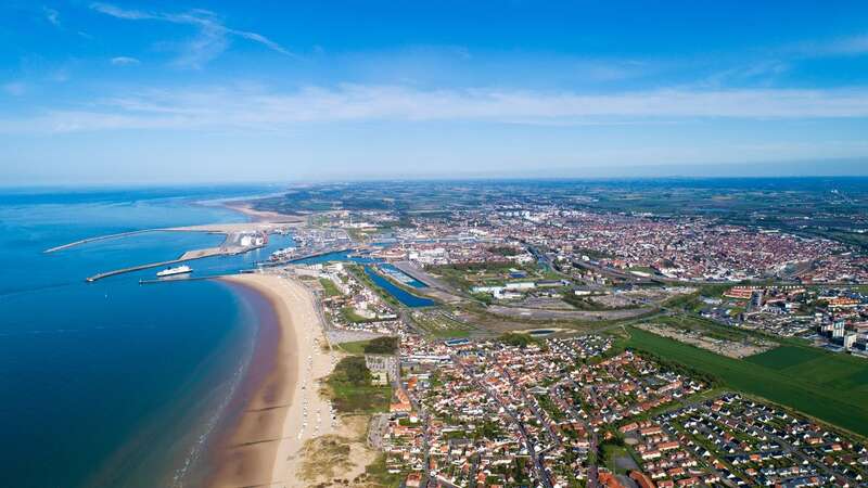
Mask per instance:
[[[261,266],[387,389],[341,412],[385,485],[865,486],[858,246],[527,197],[315,211],[293,240]]]

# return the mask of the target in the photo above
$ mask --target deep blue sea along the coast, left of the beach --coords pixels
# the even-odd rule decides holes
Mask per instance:
[[[153,232],[242,222],[225,198],[269,187],[0,189],[0,485],[184,487],[206,476],[261,321],[260,298],[213,280],[140,284],[222,236]],[[251,269],[266,248],[192,261],[194,277]],[[237,403],[237,402],[235,402]]]

